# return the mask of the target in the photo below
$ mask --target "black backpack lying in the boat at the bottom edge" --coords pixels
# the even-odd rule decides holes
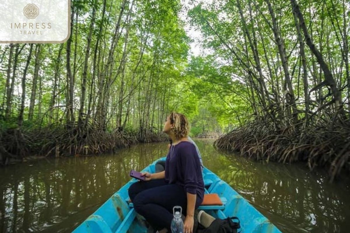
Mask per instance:
[[[233,219],[237,220],[232,221]],[[240,228],[239,219],[237,217],[228,217],[225,219],[215,219],[208,228],[198,227],[198,233],[237,233]],[[239,231],[240,232],[240,231]]]

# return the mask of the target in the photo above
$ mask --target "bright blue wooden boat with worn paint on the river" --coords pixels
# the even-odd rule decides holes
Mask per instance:
[[[165,160],[160,158],[159,160]],[[154,161],[143,172],[154,173]],[[219,195],[223,205],[200,206],[215,218],[227,218],[236,216],[240,220],[242,233],[278,233],[280,232],[265,216],[256,210],[246,199],[240,196],[226,182],[222,181],[209,169],[204,168],[203,178],[205,193]],[[136,179],[132,179],[114,193],[102,206],[80,224],[74,233],[146,233],[147,228],[144,218],[137,214],[129,203],[128,188]]]

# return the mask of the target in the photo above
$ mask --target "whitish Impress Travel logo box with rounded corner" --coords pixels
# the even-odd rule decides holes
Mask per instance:
[[[0,0],[0,43],[64,43],[70,5],[71,0]]]

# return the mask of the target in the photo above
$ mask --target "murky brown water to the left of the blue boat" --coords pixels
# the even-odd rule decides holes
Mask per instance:
[[[0,232],[69,232],[116,190],[166,153],[137,145],[115,155],[58,158],[0,169]]]

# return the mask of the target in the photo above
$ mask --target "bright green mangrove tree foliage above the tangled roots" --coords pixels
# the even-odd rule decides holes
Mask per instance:
[[[110,131],[120,126],[130,130],[161,130],[165,116],[170,111],[179,111],[190,119],[191,133],[198,134],[227,132],[256,115],[283,115],[278,109],[284,108],[286,102],[286,74],[274,38],[267,0],[194,3],[188,12],[189,23],[201,30],[203,47],[212,51],[198,57],[189,53],[191,39],[184,30],[185,22],[179,17],[180,0],[130,0],[122,6],[123,2],[72,1],[75,15],[71,45],[67,42],[41,45],[35,87],[37,45],[33,46],[26,77],[23,126],[64,125],[72,120],[76,123],[81,116],[83,121],[91,120]],[[329,64],[338,89],[342,90],[342,99],[348,100],[350,88],[343,56],[344,43],[349,41],[349,33],[343,35],[343,27],[349,22],[348,4],[343,6],[342,1],[327,0],[300,2],[300,7],[316,47]],[[96,9],[94,16],[93,8]],[[272,9],[286,50],[296,108],[301,111],[298,118],[302,119],[306,115],[303,112],[306,104],[292,8],[289,3],[278,0],[272,2]],[[90,50],[85,61],[88,41],[91,42]],[[14,77],[12,56],[9,80],[9,45],[0,48],[0,114],[4,117],[7,82],[14,80],[10,114],[4,122],[16,122],[20,114],[29,46],[25,45],[18,56]],[[71,76],[67,71],[67,52],[70,52]],[[324,75],[307,47],[305,56],[310,90],[322,82]],[[261,68],[261,74],[258,68]],[[31,106],[34,117],[28,122],[34,90],[36,95]],[[84,106],[80,110],[83,90]],[[69,106],[70,98],[73,106]],[[332,99],[327,87],[312,92],[310,98],[313,112],[324,101]],[[72,108],[73,119],[67,114],[69,108]]]

